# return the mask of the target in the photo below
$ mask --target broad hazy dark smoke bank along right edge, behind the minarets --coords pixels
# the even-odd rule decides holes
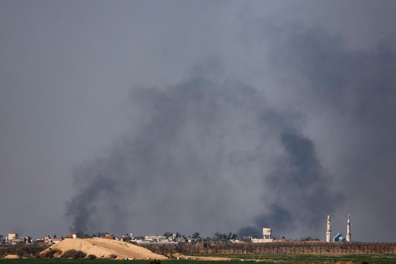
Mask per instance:
[[[355,238],[373,239],[367,226],[379,219],[386,226],[394,218],[388,209],[394,208],[396,184],[396,34],[362,51],[346,48],[339,35],[299,23],[258,31],[271,51],[267,76],[281,87],[279,94],[288,95],[277,109],[291,105],[306,118],[305,135],[346,196],[337,205],[342,217],[327,210],[343,220],[335,228],[344,233],[351,213]],[[386,228],[375,232],[374,239],[392,239]]]

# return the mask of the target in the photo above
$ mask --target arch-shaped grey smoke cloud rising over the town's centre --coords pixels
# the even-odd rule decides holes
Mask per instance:
[[[175,86],[133,89],[130,135],[75,170],[73,223],[88,232],[208,235],[252,217],[255,228],[285,231],[307,217],[316,225],[326,214],[317,203],[332,209],[328,201],[337,199],[299,132],[299,115],[275,111],[260,90],[224,78],[218,58],[192,72]]]

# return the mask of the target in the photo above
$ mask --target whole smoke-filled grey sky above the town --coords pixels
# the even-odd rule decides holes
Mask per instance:
[[[0,233],[392,240],[395,11],[0,1]]]

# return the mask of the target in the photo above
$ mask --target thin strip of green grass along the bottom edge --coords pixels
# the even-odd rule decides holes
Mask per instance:
[[[201,255],[202,256],[202,255]],[[255,258],[261,260],[260,263],[281,263],[281,264],[337,264],[341,263],[354,263],[360,264],[363,261],[369,264],[396,264],[396,254],[342,254],[342,255],[313,255],[313,254],[284,254],[284,255],[211,255],[222,257],[235,257],[242,259]],[[4,259],[0,258],[0,264],[117,264],[117,263],[130,263],[130,264],[148,264],[149,260],[104,260],[104,259],[45,259],[45,258],[24,258],[24,259]],[[163,264],[236,264],[239,260],[227,261],[202,261],[202,260],[162,260]],[[253,264],[256,262],[245,261]]]

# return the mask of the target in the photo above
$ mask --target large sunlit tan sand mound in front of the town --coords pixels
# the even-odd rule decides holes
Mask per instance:
[[[98,258],[110,258],[110,255],[114,254],[117,256],[116,259],[166,259],[166,256],[155,254],[152,251],[145,249],[144,247],[139,247],[137,245],[125,243],[118,240],[101,238],[65,239],[49,247],[48,249],[43,251],[41,255],[45,254],[46,251],[49,251],[51,249],[59,249],[62,252],[65,252],[69,249],[81,250],[82,252],[86,253],[87,256],[93,254]]]

